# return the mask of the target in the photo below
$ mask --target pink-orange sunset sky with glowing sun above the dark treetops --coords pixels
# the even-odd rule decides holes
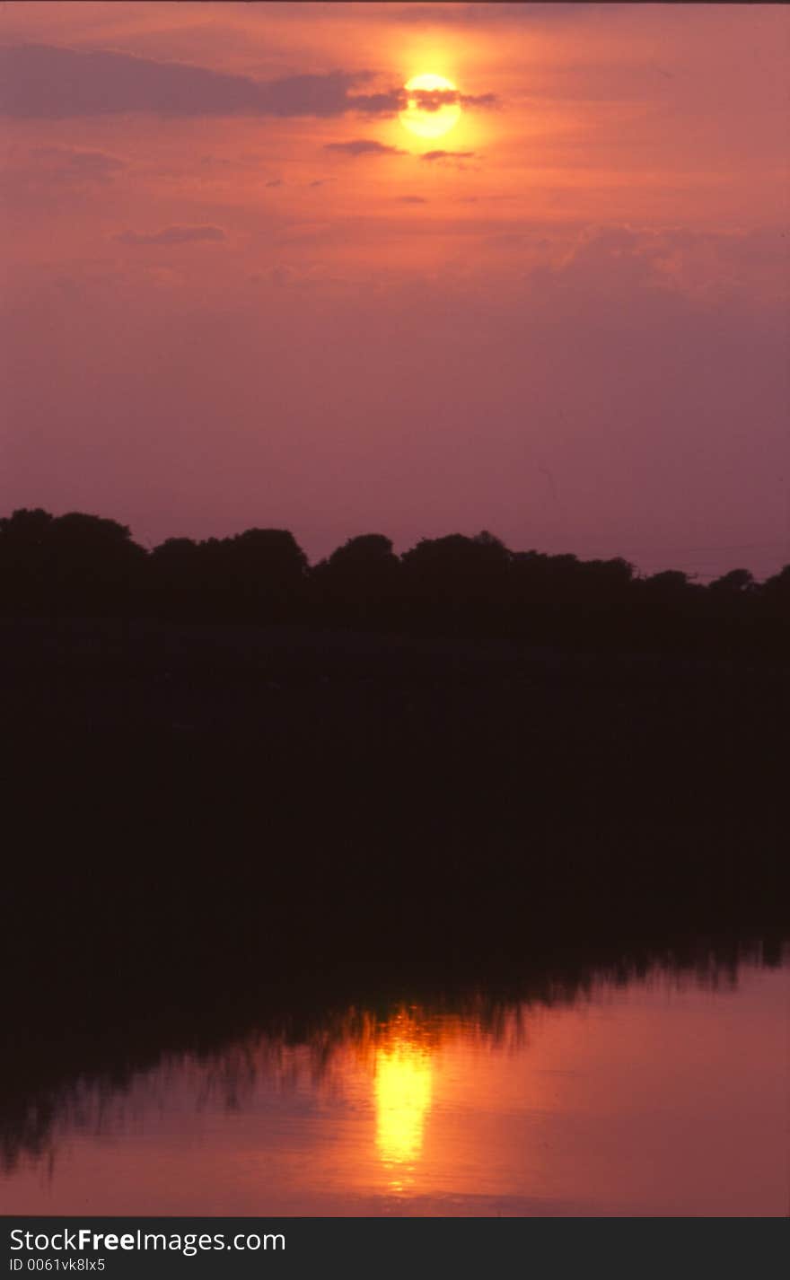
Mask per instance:
[[[789,69],[781,5],[5,0],[0,513],[776,572]]]

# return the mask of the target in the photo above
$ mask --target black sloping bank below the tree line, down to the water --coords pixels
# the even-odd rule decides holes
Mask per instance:
[[[261,1025],[790,937],[787,667],[128,620],[0,663],[6,1158]]]

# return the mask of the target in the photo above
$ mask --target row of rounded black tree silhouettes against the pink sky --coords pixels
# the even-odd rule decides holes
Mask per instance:
[[[168,538],[147,550],[114,520],[22,508],[0,518],[0,612],[781,653],[790,564],[763,582],[734,568],[702,585],[679,570],[639,575],[622,558],[513,552],[483,531],[421,539],[401,556],[365,534],[311,566],[283,529]]]

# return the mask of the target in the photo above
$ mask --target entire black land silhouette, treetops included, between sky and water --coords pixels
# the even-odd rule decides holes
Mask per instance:
[[[0,521],[6,1153],[261,1020],[787,934],[790,570],[60,521]]]

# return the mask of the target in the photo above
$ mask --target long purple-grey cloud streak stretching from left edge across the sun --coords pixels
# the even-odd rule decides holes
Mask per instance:
[[[52,45],[9,45],[0,49],[0,115],[15,119],[68,119],[122,111],[159,115],[312,115],[330,118],[357,111],[394,115],[403,109],[402,88],[380,93],[352,92],[373,78],[367,70],[333,70],[260,82],[191,67],[159,63],[108,50],[60,49]],[[425,96],[425,110],[444,101],[484,106],[494,95]],[[408,95],[414,97],[415,95]],[[424,95],[420,95],[424,96]]]

